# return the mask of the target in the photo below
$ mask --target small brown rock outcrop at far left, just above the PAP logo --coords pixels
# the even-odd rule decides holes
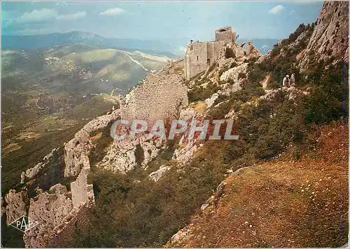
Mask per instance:
[[[6,202],[6,223],[9,225],[22,215],[27,215],[27,190],[16,192],[16,190],[10,190],[5,196]]]

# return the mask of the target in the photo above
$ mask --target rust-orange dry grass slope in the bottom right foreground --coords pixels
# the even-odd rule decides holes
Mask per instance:
[[[247,167],[176,247],[339,247],[348,234],[348,127],[321,127],[295,162]],[[309,153],[310,152],[310,153]],[[316,155],[316,156],[315,156]]]

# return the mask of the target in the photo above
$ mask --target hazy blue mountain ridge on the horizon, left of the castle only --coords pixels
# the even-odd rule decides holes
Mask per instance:
[[[81,31],[52,33],[29,36],[2,36],[3,49],[38,49],[51,48],[54,45],[84,43],[100,48],[118,48],[123,50],[142,50],[155,55],[174,58],[176,48],[162,41],[138,40],[133,38],[104,38],[97,34]]]

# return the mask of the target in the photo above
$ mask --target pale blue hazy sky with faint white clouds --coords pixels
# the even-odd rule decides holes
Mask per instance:
[[[321,6],[320,1],[2,1],[1,31],[207,41],[217,27],[232,26],[241,38],[285,38],[300,23],[314,22]]]

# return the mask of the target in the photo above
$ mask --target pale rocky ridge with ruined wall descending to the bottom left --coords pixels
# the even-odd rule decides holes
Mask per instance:
[[[57,184],[48,192],[41,192],[30,200],[28,218],[38,225],[25,233],[27,247],[51,245],[54,238],[62,237],[59,234],[65,231],[66,226],[71,227],[71,221],[76,219],[82,207],[94,203],[92,185],[87,184],[87,174],[90,172],[88,155],[93,147],[90,134],[106,127],[119,116],[120,112],[116,110],[109,115],[95,118],[80,129],[71,141],[64,144],[64,176],[76,176],[76,180],[71,182],[71,192],[68,192],[65,186]],[[43,164],[37,165],[39,166],[34,169],[43,167]]]

